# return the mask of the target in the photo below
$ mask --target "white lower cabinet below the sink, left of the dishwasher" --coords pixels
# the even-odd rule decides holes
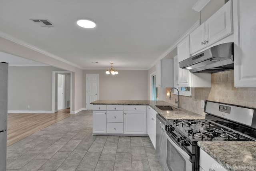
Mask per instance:
[[[156,149],[156,111],[148,106],[148,136]]]

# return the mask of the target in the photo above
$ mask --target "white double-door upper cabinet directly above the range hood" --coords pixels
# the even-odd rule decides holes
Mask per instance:
[[[190,34],[190,54],[202,50],[233,33],[232,1],[228,1]]]

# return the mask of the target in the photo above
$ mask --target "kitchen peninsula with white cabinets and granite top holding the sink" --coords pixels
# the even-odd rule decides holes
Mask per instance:
[[[97,100],[91,104],[93,135],[148,136],[150,127],[156,125],[156,113],[165,119],[205,118],[165,101]],[[172,110],[161,110],[156,106],[170,106]]]

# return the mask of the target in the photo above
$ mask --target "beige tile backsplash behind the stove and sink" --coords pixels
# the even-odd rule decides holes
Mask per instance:
[[[171,88],[166,88],[166,93]],[[223,103],[256,107],[256,88],[236,88],[234,87],[234,70],[212,74],[211,88],[192,88],[192,97],[180,96],[182,108],[204,115],[201,108],[201,100],[212,100]],[[172,99],[166,97],[166,102],[177,105],[174,100],[177,95],[172,95]]]

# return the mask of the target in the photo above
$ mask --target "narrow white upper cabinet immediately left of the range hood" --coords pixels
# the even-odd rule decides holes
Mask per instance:
[[[189,36],[184,38],[178,46],[178,64],[179,62],[190,58]],[[190,87],[191,73],[189,70],[182,69],[178,66],[178,87]]]

